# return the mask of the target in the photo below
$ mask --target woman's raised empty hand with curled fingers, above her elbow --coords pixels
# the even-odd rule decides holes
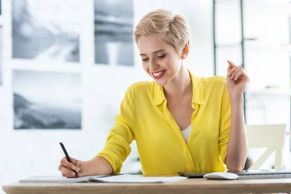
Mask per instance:
[[[246,75],[242,66],[236,66],[229,60],[227,60],[227,63],[226,84],[229,97],[242,97],[250,78]]]

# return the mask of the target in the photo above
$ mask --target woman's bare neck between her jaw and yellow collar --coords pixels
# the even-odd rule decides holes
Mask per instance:
[[[183,64],[176,77],[163,86],[163,90],[166,98],[182,99],[186,95],[192,94],[191,76]]]

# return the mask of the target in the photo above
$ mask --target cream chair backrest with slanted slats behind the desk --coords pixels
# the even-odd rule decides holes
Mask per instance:
[[[249,148],[267,147],[261,157],[250,166],[250,170],[259,167],[275,151],[275,169],[282,168],[282,148],[285,145],[287,124],[247,125],[246,135]]]

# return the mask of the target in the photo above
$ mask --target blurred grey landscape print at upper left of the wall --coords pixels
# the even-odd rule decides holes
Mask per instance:
[[[12,57],[79,62],[81,0],[13,0]]]

